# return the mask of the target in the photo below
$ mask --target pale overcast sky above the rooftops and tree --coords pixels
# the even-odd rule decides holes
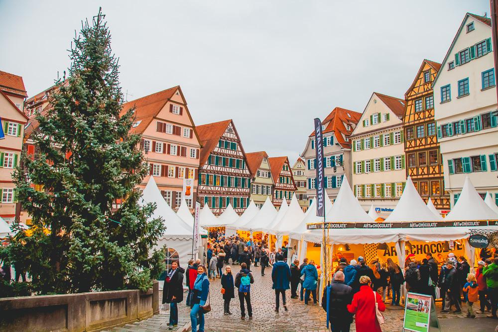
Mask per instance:
[[[291,163],[314,117],[363,112],[374,91],[404,98],[465,13],[490,12],[488,0],[0,0],[0,70],[28,96],[48,88],[100,5],[128,101],[180,85],[196,125],[232,118],[246,152]]]

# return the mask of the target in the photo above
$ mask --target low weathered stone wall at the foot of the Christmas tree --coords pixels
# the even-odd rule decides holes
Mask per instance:
[[[0,299],[0,331],[92,332],[159,313],[159,284],[138,290]]]

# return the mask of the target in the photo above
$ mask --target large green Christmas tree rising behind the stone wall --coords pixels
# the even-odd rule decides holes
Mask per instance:
[[[129,134],[133,110],[120,115],[118,59],[101,11],[82,24],[70,59],[50,111],[37,117],[35,158],[23,155],[15,172],[33,234],[19,232],[4,256],[29,273],[36,294],[144,290],[163,270],[162,252],[150,251],[164,225],[150,221],[154,206],[138,204],[146,174],[140,137]]]

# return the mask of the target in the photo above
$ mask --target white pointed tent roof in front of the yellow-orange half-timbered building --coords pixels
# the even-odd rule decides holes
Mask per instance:
[[[385,219],[385,222],[442,220],[443,218],[441,216],[434,215],[434,213],[429,210],[427,205],[425,205],[424,201],[418,194],[417,189],[415,189],[411,178],[408,177],[398,204],[389,217]]]

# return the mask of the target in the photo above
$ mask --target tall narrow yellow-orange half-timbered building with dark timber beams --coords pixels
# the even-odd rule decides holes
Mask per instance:
[[[445,213],[450,209],[450,197],[444,189],[432,91],[432,82],[440,67],[440,63],[422,61],[415,80],[405,94],[403,130],[406,175],[411,177],[425,202],[430,197],[436,209]]]

